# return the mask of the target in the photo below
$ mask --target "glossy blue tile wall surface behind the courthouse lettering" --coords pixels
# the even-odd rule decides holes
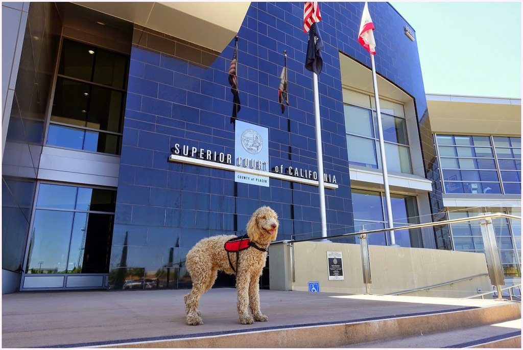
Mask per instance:
[[[354,224],[338,55],[370,66],[356,40],[362,8],[363,3],[321,3],[324,171],[339,186],[325,190],[328,235],[351,232]],[[370,3],[369,9],[377,28],[378,74],[415,99],[421,118],[425,91],[416,43],[404,40],[406,22],[388,3]],[[268,128],[271,166],[316,171],[312,73],[304,69],[308,35],[302,20],[303,3],[249,7],[238,32],[238,119]],[[189,287],[188,250],[204,237],[244,234],[247,220],[263,205],[279,214],[278,239],[320,236],[316,187],[278,179],[270,179],[270,187],[235,183],[232,172],[167,162],[175,143],[234,154],[228,83],[234,40],[216,53],[147,29],[134,31],[110,280],[122,276],[122,269],[127,276],[145,270],[156,287]],[[289,69],[285,114],[277,97],[283,50]]]

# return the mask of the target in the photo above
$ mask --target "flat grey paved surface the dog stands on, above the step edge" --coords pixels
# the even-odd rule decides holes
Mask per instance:
[[[345,296],[335,293],[261,290],[268,322],[242,325],[236,290],[212,289],[200,304],[204,324],[185,321],[188,290],[18,292],[2,298],[2,347],[73,347],[261,331],[286,326],[400,317],[470,307],[496,300]],[[257,347],[264,347],[258,344]]]

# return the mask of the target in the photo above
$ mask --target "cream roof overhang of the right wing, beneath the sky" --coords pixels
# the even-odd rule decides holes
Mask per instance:
[[[435,133],[521,135],[521,99],[427,94]]]

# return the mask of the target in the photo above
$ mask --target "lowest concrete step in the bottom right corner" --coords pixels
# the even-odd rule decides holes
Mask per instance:
[[[521,348],[521,319],[445,332],[339,346],[342,348]]]

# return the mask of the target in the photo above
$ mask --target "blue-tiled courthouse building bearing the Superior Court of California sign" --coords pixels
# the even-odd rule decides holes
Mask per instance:
[[[320,4],[317,174],[303,3],[3,3],[3,292],[190,288],[188,250],[243,235],[260,206],[278,212],[279,240],[321,236],[318,176],[327,235],[386,227],[363,5]],[[369,10],[395,226],[445,220],[414,28],[389,3]],[[242,135],[265,160],[238,159]],[[452,249],[446,227],[395,238]]]

